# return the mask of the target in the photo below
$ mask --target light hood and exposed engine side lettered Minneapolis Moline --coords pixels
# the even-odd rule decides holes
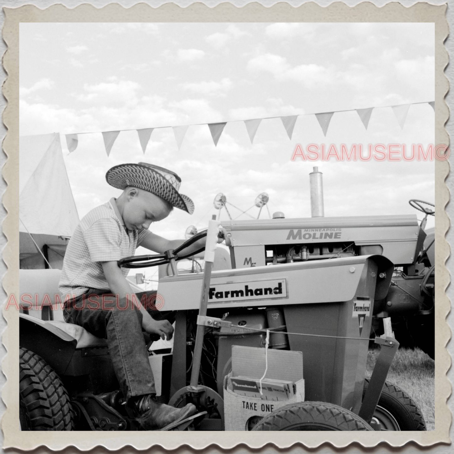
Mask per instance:
[[[412,266],[426,237],[416,215],[222,221],[232,268],[379,254]]]

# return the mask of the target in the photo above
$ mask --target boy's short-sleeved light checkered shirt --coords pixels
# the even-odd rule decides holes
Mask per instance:
[[[89,288],[109,290],[101,262],[133,256],[149,233],[148,229],[128,230],[115,199],[87,213],[74,230],[64,255],[59,282],[63,298],[82,295]],[[121,271],[128,276],[128,268]]]

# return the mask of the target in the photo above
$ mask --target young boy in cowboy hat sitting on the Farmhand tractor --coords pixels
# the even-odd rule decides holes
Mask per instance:
[[[158,253],[178,247],[183,240],[166,240],[148,227],[167,217],[173,207],[192,214],[194,204],[178,192],[181,179],[176,173],[152,164],[115,166],[107,172],[106,180],[123,193],[91,210],[74,230],[59,282],[62,296],[72,298],[65,305],[64,318],[107,339],[115,374],[133,414],[143,429],[161,429],[197,410],[192,404],[177,409],[157,402],[142,330],[170,339],[173,327],[167,320],[154,320],[144,306],[140,310],[118,308],[132,301],[132,291],[126,280],[129,270],[119,268],[117,261],[133,256],[138,246]],[[205,238],[183,253],[204,246]],[[119,304],[115,297],[110,296],[109,300],[106,294],[118,295]],[[90,300],[98,301],[98,305],[90,304],[90,295]],[[109,307],[106,301],[110,302]]]

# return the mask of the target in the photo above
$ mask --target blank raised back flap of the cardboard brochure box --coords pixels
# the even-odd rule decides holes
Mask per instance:
[[[260,378],[265,372],[264,348],[232,345],[232,376]],[[296,383],[303,378],[301,351],[267,349],[268,369],[264,378]]]

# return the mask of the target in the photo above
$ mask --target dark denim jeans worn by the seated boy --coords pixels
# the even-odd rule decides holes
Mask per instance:
[[[139,298],[141,294],[138,295]],[[63,315],[67,323],[79,325],[97,337],[107,339],[112,366],[123,395],[156,393],[153,372],[142,333],[142,312],[116,302],[106,290],[90,288],[84,295],[67,302]]]

